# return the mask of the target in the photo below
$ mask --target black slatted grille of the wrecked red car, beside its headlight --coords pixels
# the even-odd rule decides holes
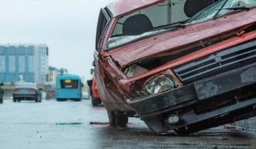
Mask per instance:
[[[256,41],[250,41],[179,65],[173,71],[187,84],[255,63],[255,58]]]

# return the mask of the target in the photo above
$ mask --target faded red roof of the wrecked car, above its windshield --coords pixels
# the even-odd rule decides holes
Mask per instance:
[[[109,9],[113,17],[117,17],[163,1],[165,0],[117,0],[107,5],[107,9]]]

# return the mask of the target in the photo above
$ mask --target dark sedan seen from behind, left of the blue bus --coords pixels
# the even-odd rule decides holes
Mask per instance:
[[[42,94],[41,88],[38,88],[35,83],[20,83],[15,86],[13,90],[13,102],[20,102],[21,100],[33,100],[41,102]]]

